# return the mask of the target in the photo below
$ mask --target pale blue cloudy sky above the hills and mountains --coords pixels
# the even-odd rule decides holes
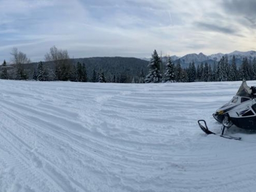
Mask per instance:
[[[255,0],[0,0],[0,62],[256,50]]]

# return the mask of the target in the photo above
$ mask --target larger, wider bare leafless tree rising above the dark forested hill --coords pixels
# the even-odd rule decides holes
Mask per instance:
[[[71,75],[71,62],[67,50],[50,48],[50,52],[45,55],[46,61],[55,63],[55,75],[58,80],[69,80]]]

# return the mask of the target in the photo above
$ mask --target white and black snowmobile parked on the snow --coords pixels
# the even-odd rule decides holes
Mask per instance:
[[[241,137],[226,135],[226,130],[232,125],[245,130],[256,131],[256,88],[254,86],[248,87],[246,81],[243,80],[237,94],[212,116],[222,123],[221,134],[211,132],[204,120],[198,120],[200,128],[208,135],[214,134],[228,139],[240,140]]]

